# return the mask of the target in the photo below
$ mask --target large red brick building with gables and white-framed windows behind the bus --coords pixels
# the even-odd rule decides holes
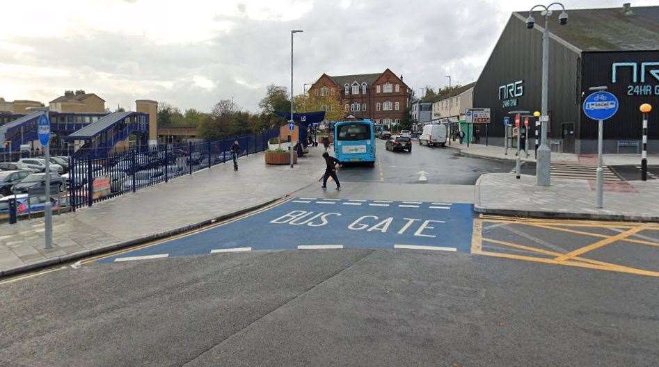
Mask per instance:
[[[409,103],[408,87],[391,70],[379,74],[329,76],[322,74],[309,93],[334,96],[346,115],[395,125],[403,120]]]

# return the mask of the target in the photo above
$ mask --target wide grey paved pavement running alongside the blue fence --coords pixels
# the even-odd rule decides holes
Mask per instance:
[[[73,213],[54,215],[53,247],[45,249],[43,218],[0,224],[0,275],[71,261],[189,230],[314,183],[321,149],[294,170],[264,164],[263,153],[240,159],[239,171],[216,165]]]

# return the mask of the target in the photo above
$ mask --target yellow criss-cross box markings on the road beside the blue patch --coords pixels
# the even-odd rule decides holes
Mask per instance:
[[[496,225],[502,227],[507,224],[515,225],[525,225],[528,227],[538,227],[543,229],[555,230],[555,231],[564,231],[573,234],[579,234],[587,237],[602,238],[594,243],[589,245],[578,247],[572,251],[557,252],[552,250],[546,250],[539,247],[532,247],[527,245],[521,245],[518,243],[512,243],[505,240],[498,240],[495,238],[485,238],[482,235],[483,223],[493,222]],[[490,225],[487,228],[493,228],[494,225]],[[569,228],[564,228],[569,227]],[[588,231],[578,231],[571,229],[574,227],[590,227],[598,229],[613,229],[617,231],[617,234],[607,235],[600,234]],[[621,230],[621,228],[625,230]],[[500,215],[484,215],[481,214],[480,218],[476,218],[473,222],[473,237],[471,243],[471,253],[479,254],[484,256],[493,256],[503,259],[514,259],[521,261],[530,261],[535,263],[546,263],[550,265],[558,266],[572,266],[580,268],[589,268],[594,270],[606,270],[612,272],[625,272],[635,275],[644,275],[649,277],[659,277],[658,271],[646,270],[641,268],[634,268],[632,266],[624,266],[617,263],[608,263],[605,261],[598,261],[596,259],[589,259],[583,257],[591,251],[598,249],[605,249],[607,245],[615,242],[626,242],[634,245],[649,245],[652,247],[659,246],[659,240],[657,242],[651,240],[638,240],[635,238],[630,238],[630,236],[635,236],[640,232],[651,229],[659,230],[659,225],[649,224],[649,223],[634,223],[634,222],[598,222],[593,220],[550,220],[550,219],[523,219],[523,218],[512,218],[504,217]],[[640,236],[640,235],[639,235]],[[644,236],[645,238],[649,238]],[[501,245],[502,247],[507,247],[514,250],[521,250],[524,252],[531,252],[534,256],[530,255],[519,255],[511,254],[509,252],[495,252],[484,250],[483,246],[485,243],[494,243]]]

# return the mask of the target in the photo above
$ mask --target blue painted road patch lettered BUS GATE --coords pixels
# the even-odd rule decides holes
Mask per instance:
[[[209,254],[237,247],[294,250],[300,245],[347,249],[414,245],[469,252],[473,215],[471,204],[295,198],[226,225],[98,262],[154,254]]]

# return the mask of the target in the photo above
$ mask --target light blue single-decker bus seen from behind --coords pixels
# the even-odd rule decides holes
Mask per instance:
[[[337,121],[334,124],[334,156],[341,163],[375,163],[375,131],[371,120]]]

